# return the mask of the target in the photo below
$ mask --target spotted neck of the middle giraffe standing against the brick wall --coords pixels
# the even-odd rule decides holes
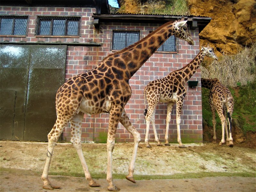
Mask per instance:
[[[178,72],[178,74],[180,74],[181,79],[183,80],[183,83],[188,81],[188,79],[190,79],[194,75],[194,73],[196,73],[197,68],[200,66],[200,64],[204,60],[204,56],[205,56],[205,52],[201,50],[196,55],[196,57],[190,63],[188,63],[188,65],[175,71],[175,72]],[[170,73],[169,75],[171,75],[172,73]]]

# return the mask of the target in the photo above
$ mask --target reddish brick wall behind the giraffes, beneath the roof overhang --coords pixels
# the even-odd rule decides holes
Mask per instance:
[[[148,35],[149,29],[156,29],[156,24],[138,24],[138,23],[100,23],[100,29],[94,30],[92,38],[96,38],[102,43],[101,47],[69,47],[67,53],[67,75],[69,78],[78,73],[84,73],[101,62],[101,60],[112,53],[111,46],[111,29],[127,28],[140,29],[140,38]],[[140,132],[142,141],[145,139],[146,121],[144,117],[144,97],[143,91],[145,86],[152,80],[163,78],[170,72],[184,67],[199,52],[198,29],[191,31],[195,45],[188,45],[185,41],[179,40],[178,53],[154,53],[149,60],[138,70],[130,79],[129,83],[132,88],[132,97],[125,106],[126,113],[132,124]],[[84,60],[81,60],[83,56]],[[80,58],[79,58],[80,57]],[[77,58],[77,59],[76,59]],[[200,69],[191,78],[196,80],[199,77]],[[187,84],[186,84],[187,86]],[[180,132],[182,142],[202,142],[202,104],[201,104],[201,86],[196,88],[187,87],[187,95],[181,113]],[[146,105],[147,106],[147,105]],[[148,108],[148,106],[147,106]],[[166,128],[167,104],[159,103],[156,107],[156,129],[158,137],[164,141]],[[82,141],[105,142],[108,132],[108,114],[99,114],[84,116]],[[177,142],[176,126],[176,105],[172,110],[172,120],[169,129],[169,141]],[[70,126],[70,124],[69,124]],[[154,142],[153,129],[150,126],[150,142]],[[64,140],[70,140],[70,127],[67,127],[63,133]],[[116,132],[116,142],[133,142],[132,135],[119,123]]]

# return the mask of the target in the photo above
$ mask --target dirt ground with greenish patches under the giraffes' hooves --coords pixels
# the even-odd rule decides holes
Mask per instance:
[[[0,141],[0,191],[49,191],[42,188],[47,143]],[[134,179],[125,180],[132,155],[132,143],[116,143],[113,177],[120,191],[255,191],[256,149],[234,145],[184,144],[145,147],[140,143]],[[54,149],[49,179],[61,189],[55,191],[107,191],[106,144],[83,143],[83,153],[93,178],[101,187],[91,188],[70,143]],[[76,177],[74,177],[76,176]],[[121,179],[117,179],[121,178]]]

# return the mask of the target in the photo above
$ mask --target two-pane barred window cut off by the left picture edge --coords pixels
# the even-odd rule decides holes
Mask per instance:
[[[26,35],[27,25],[27,15],[0,15],[0,35]]]

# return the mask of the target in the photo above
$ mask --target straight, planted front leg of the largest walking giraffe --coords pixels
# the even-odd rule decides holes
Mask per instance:
[[[107,152],[108,152],[108,166],[107,166],[107,181],[109,191],[119,191],[120,188],[116,187],[113,182],[112,176],[112,153],[116,139],[116,129],[120,120],[121,114],[123,113],[124,107],[121,105],[112,105],[109,113],[108,123],[108,138],[107,138]]]

